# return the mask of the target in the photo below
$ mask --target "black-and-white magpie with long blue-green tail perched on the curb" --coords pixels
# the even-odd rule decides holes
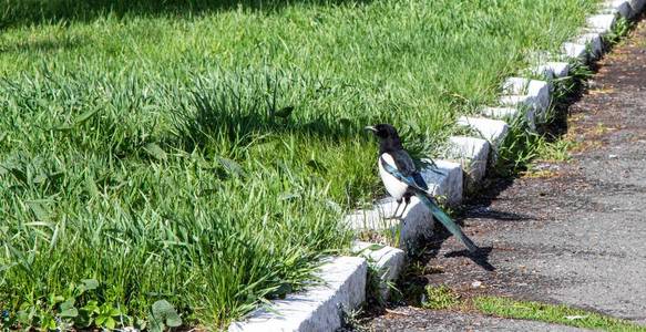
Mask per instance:
[[[386,190],[397,200],[397,208],[393,217],[397,218],[397,211],[403,203],[403,216],[410,199],[416,196],[424,206],[427,206],[433,217],[439,220],[454,237],[457,237],[470,252],[480,250],[473,241],[462,232],[462,229],[451,217],[449,217],[435,203],[428,190],[429,186],[421,174],[417,170],[416,165],[403,148],[401,138],[394,126],[390,124],[377,124],[365,127],[379,138],[379,176],[386,187]]]

